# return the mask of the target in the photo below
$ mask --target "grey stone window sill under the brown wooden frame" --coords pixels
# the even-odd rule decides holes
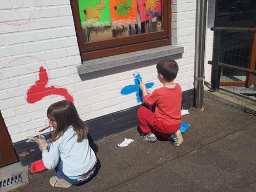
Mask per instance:
[[[79,75],[82,75],[90,72],[106,70],[108,68],[129,65],[136,62],[148,61],[154,58],[177,55],[183,52],[184,47],[173,45],[150,48],[142,51],[83,61],[82,65],[77,67],[77,71]]]

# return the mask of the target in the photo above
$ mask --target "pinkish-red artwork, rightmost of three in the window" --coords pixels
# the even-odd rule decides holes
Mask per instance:
[[[161,16],[161,0],[138,1],[141,22]]]

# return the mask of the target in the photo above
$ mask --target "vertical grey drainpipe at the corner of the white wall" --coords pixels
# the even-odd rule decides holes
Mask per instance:
[[[207,0],[196,1],[194,109],[203,111]]]

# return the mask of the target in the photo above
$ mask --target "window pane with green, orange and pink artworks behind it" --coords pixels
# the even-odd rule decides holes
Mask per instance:
[[[78,0],[85,42],[159,32],[163,0]]]

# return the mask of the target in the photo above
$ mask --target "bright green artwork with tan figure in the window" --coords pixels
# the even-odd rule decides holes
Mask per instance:
[[[111,25],[109,0],[78,0],[82,27]]]

